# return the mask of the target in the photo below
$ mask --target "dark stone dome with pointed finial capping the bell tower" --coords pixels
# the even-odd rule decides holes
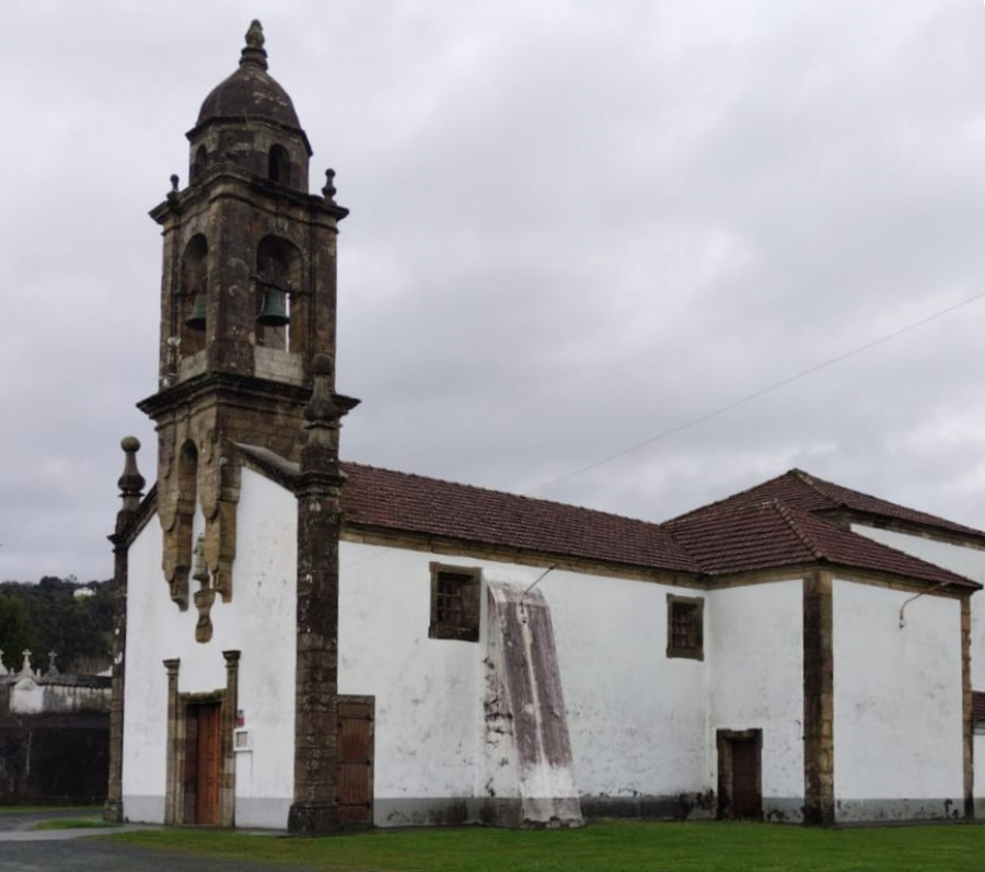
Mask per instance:
[[[287,91],[267,73],[264,30],[258,21],[246,32],[240,68],[205,98],[195,130],[209,121],[232,119],[267,121],[303,135]]]

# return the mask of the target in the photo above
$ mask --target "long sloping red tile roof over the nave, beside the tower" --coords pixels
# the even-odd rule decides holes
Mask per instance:
[[[345,523],[698,574],[658,524],[470,485],[344,464]]]

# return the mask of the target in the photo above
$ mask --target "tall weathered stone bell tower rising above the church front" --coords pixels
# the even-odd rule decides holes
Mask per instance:
[[[336,234],[347,214],[333,171],[321,196],[308,193],[311,147],[267,73],[259,22],[187,137],[188,185],[172,176],[151,211],[164,239],[160,383],[139,404],[157,423],[163,571],[183,609],[196,505],[211,586],[224,602],[233,595],[235,444],[301,460],[313,361],[335,357]],[[343,412],[356,405],[336,402]]]

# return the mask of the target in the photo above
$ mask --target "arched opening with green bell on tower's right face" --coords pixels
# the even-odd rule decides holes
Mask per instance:
[[[256,252],[256,344],[292,348],[294,310],[301,298],[301,252],[287,240],[264,236]]]

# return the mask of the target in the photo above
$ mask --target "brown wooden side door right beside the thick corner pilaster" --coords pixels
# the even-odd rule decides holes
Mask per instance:
[[[338,698],[338,821],[373,823],[373,709],[371,696]]]

